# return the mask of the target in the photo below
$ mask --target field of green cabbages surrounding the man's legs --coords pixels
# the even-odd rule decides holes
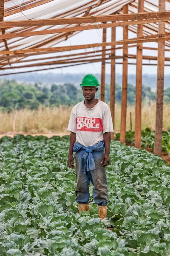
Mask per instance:
[[[170,167],[111,143],[108,217],[78,213],[68,137],[0,139],[0,256],[169,256]],[[113,229],[106,229],[113,227]]]

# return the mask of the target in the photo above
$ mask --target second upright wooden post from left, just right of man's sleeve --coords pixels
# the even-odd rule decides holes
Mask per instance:
[[[111,41],[116,41],[116,27],[111,29]],[[115,57],[115,46],[112,47],[111,55]],[[111,59],[111,95],[110,95],[110,105],[111,105],[111,116],[114,128],[114,113],[115,113],[115,59]],[[111,133],[111,140],[114,140],[114,133]]]

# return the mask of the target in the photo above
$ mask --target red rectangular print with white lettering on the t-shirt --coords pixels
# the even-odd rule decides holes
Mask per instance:
[[[77,131],[102,131],[102,118],[82,117],[76,118]]]

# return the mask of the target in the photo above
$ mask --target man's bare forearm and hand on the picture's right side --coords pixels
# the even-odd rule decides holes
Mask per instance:
[[[108,166],[109,163],[110,163],[109,154],[110,154],[110,146],[111,146],[111,133],[110,133],[110,131],[105,132],[103,134],[103,140],[104,140],[104,143],[105,143],[105,154],[102,157],[102,162],[101,163],[103,163],[102,166]]]

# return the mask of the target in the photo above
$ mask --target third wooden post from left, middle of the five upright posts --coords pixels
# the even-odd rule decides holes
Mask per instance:
[[[123,6],[123,14],[128,13],[128,5]],[[123,27],[123,39],[128,39],[128,26]],[[127,46],[127,44],[123,44]],[[121,108],[121,126],[120,126],[120,142],[125,143],[126,140],[126,111],[127,111],[127,53],[128,48],[123,49],[123,74],[122,74],[122,108]]]

